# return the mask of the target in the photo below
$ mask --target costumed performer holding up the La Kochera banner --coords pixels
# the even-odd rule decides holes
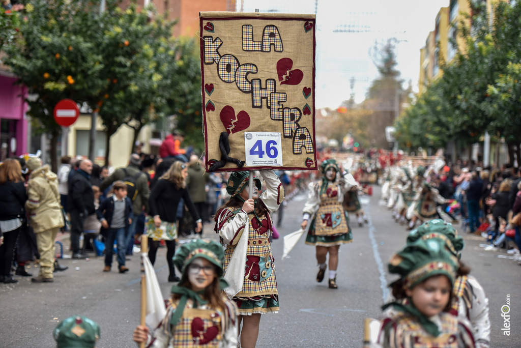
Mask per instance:
[[[231,173],[226,188],[231,198],[215,215],[215,231],[226,245],[224,278],[230,287],[225,291],[239,307],[243,348],[255,347],[261,314],[279,310],[269,237],[271,214],[282,203],[284,189],[274,171],[261,170],[261,176],[266,191],[259,197],[262,184],[254,177],[253,198],[249,199],[249,172]]]

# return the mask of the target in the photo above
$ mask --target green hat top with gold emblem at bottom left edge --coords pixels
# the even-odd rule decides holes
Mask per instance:
[[[100,326],[84,316],[60,322],[53,332],[57,348],[94,348],[100,339]]]

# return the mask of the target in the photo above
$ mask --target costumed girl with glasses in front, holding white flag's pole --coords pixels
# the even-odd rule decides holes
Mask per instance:
[[[181,281],[172,287],[167,314],[153,332],[135,328],[134,341],[152,348],[237,348],[237,306],[222,293],[228,286],[221,278],[223,258],[217,242],[182,244],[173,258]]]

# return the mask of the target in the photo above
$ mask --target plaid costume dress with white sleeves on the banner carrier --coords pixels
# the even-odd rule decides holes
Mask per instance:
[[[215,230],[226,245],[223,265],[225,274],[239,239],[243,233],[248,233],[243,285],[241,291],[233,297],[241,315],[277,313],[279,310],[274,258],[268,238],[273,227],[271,213],[282,203],[284,190],[273,171],[261,171],[261,175],[267,189],[256,205],[263,204],[268,213],[257,219],[253,212],[246,214],[240,207],[227,207],[220,210],[216,220]],[[248,231],[244,231],[245,226],[248,226]],[[225,235],[233,237],[225,240]]]

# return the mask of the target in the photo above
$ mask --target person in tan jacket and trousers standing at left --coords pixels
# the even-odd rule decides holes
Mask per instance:
[[[26,209],[31,226],[36,234],[36,245],[40,253],[40,274],[32,278],[34,283],[53,282],[54,240],[58,230],[64,226],[61,213],[58,179],[42,160],[31,157],[27,161],[29,182],[27,184]]]

